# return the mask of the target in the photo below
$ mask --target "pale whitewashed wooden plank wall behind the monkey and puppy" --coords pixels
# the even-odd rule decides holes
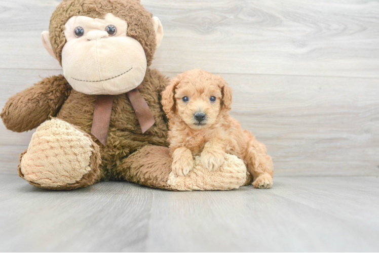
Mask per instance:
[[[40,76],[57,0],[0,1],[0,107]],[[142,0],[165,36],[153,63],[196,67],[234,89],[232,115],[273,156],[276,176],[379,176],[379,2]],[[16,174],[33,132],[0,124],[0,173]]]

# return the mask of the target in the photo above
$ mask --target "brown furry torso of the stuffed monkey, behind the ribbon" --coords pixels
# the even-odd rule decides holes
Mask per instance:
[[[106,146],[100,144],[92,136],[92,139],[100,146],[102,180],[117,179],[115,170],[118,164],[139,148],[147,144],[168,146],[167,123],[164,120],[164,111],[160,107],[159,96],[159,91],[164,89],[167,81],[159,71],[148,70],[142,82],[143,89],[140,93],[156,120],[156,123],[144,134],[141,132],[137,116],[127,95],[114,96]],[[96,97],[72,91],[57,118],[78,125],[85,132],[91,133]]]

